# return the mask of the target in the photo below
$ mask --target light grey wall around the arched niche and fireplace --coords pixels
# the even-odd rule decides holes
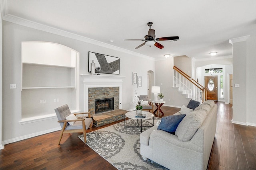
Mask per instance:
[[[2,56],[2,141],[3,144],[26,139],[43,133],[60,129],[57,118],[20,125],[21,120],[21,42],[46,41],[65,45],[80,53],[80,74],[88,73],[88,51],[120,57],[120,75],[124,76],[122,89],[122,109],[132,109],[134,90],[139,94],[147,94],[147,71],[154,69],[154,60],[138,57],[99,45],[47,33],[37,29],[24,27],[7,21],[2,23],[3,56]],[[132,85],[132,72],[142,76],[142,88]],[[108,74],[109,75],[109,74]],[[115,75],[113,75],[115,76]],[[17,84],[10,89],[10,84]],[[82,87],[80,78],[80,87]],[[83,94],[83,88],[80,88]],[[83,107],[83,95],[80,95],[80,109]],[[83,110],[82,110],[83,111]]]

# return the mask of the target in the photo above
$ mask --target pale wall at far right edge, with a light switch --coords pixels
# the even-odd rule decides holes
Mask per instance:
[[[256,126],[256,25],[250,36],[231,39],[233,44],[233,123]],[[239,87],[234,87],[239,84]]]

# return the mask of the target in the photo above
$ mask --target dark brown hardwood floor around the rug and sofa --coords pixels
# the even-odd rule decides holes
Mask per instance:
[[[232,105],[217,105],[217,132],[208,170],[256,170],[256,127],[232,124]],[[161,108],[164,116],[180,110]],[[100,128],[93,127],[96,129]],[[56,131],[5,145],[0,150],[0,170],[116,169],[84,144],[77,137],[79,133],[64,134],[57,145],[59,135]]]

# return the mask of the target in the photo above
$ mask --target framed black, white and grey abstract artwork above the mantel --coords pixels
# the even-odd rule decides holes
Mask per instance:
[[[89,51],[88,72],[92,72],[91,61],[94,61],[95,68],[100,68],[98,73],[120,74],[120,58],[93,53]]]

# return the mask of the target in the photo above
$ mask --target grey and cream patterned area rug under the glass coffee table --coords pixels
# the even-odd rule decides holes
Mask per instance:
[[[160,118],[154,118],[154,125]],[[152,126],[153,118],[142,121],[142,126]],[[137,126],[137,120],[126,120],[126,126]],[[148,127],[143,127],[145,131]],[[78,136],[84,141],[83,135]],[[119,170],[168,170],[151,161],[144,161],[140,155],[140,128],[126,127],[124,121],[109,127],[86,133],[87,143]]]

